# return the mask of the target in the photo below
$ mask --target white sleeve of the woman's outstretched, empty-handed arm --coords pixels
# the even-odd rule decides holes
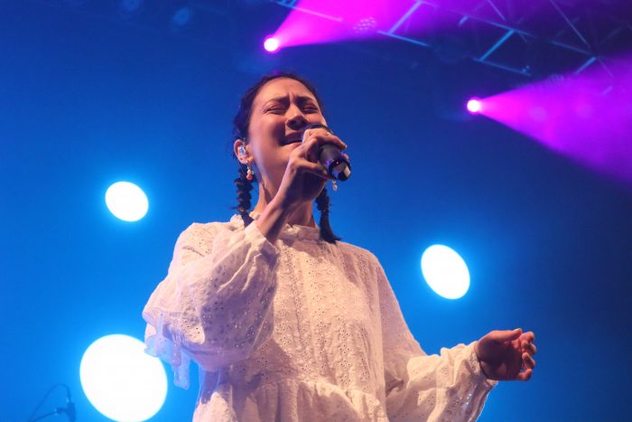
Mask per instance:
[[[476,420],[497,381],[480,369],[475,342],[441,348],[440,355],[423,352],[376,266],[389,420]]]

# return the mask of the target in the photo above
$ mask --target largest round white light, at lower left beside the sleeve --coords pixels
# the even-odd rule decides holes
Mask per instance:
[[[167,397],[163,364],[144,352],[144,342],[128,335],[107,335],[90,344],[79,377],[90,403],[116,421],[147,420]]]

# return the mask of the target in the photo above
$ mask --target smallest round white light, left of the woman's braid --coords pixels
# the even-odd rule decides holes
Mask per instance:
[[[124,221],[137,221],[149,209],[149,201],[143,190],[134,183],[116,182],[106,192],[107,209]]]

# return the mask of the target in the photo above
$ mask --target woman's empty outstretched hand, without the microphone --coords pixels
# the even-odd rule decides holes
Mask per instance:
[[[493,331],[474,345],[480,368],[490,380],[526,381],[533,374],[536,347],[533,332]]]

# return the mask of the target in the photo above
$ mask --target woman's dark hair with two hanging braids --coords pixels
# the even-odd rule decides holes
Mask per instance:
[[[253,101],[255,100],[256,94],[259,90],[270,80],[276,80],[279,78],[289,78],[292,80],[297,80],[305,86],[305,88],[309,89],[313,96],[318,101],[318,105],[322,110],[322,102],[321,98],[319,98],[316,89],[311,85],[307,80],[303,80],[300,76],[290,73],[290,72],[275,72],[268,75],[265,75],[261,80],[258,80],[255,85],[246,90],[246,93],[241,98],[241,102],[239,103],[239,109],[237,111],[237,115],[233,119],[233,142],[237,139],[244,139],[244,142],[248,143],[248,128],[250,126],[250,117],[252,115],[252,106]],[[232,145],[231,148],[232,150]],[[234,155],[233,155],[234,156]],[[237,158],[237,157],[235,157]],[[237,172],[239,176],[235,179],[235,185],[237,186],[237,202],[239,203],[236,207],[232,207],[233,210],[237,210],[239,215],[241,215],[242,220],[244,220],[244,225],[247,227],[252,221],[252,217],[248,214],[248,210],[250,210],[251,199],[252,196],[250,191],[253,189],[252,181],[249,181],[246,178],[246,164],[239,163],[239,168]],[[256,179],[255,179],[256,180]],[[258,182],[258,181],[257,181]],[[316,206],[319,211],[321,211],[321,239],[329,242],[336,243],[336,240],[340,240],[338,236],[333,234],[330,226],[330,197],[327,194],[327,188],[323,187],[321,193],[316,198]]]

